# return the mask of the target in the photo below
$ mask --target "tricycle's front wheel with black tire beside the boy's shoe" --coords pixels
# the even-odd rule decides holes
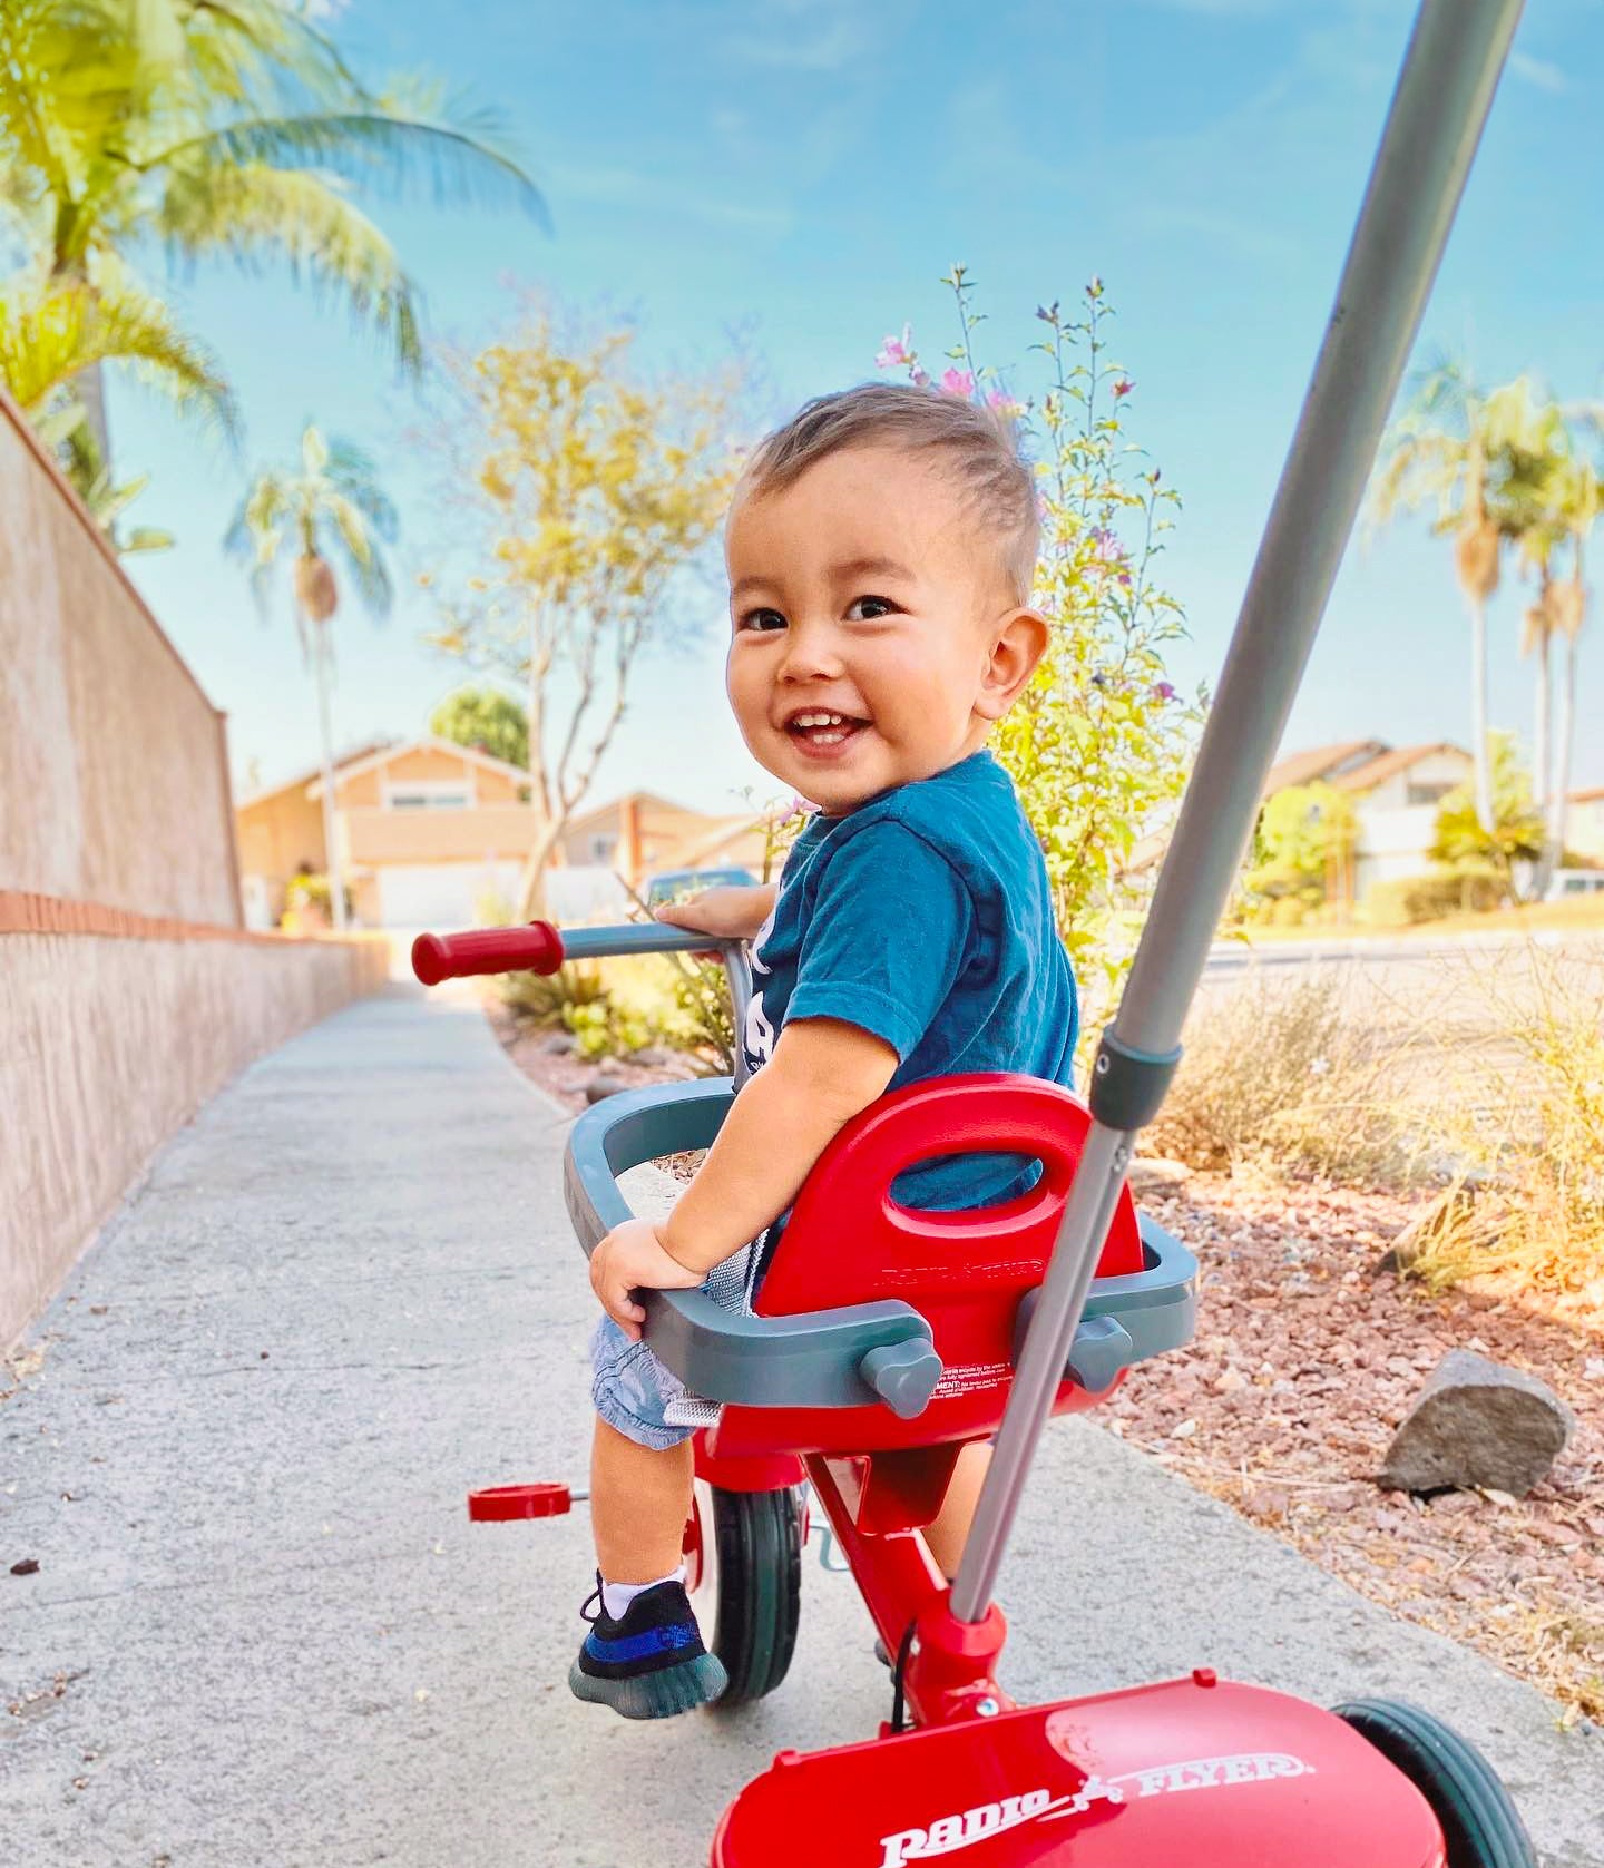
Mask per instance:
[[[704,1556],[691,1603],[730,1685],[717,1705],[762,1700],[786,1677],[801,1618],[801,1500],[696,1481]]]

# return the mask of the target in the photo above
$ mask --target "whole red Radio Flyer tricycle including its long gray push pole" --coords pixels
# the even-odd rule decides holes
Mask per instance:
[[[803,1479],[846,1552],[893,1672],[878,1739],[781,1752],[725,1810],[713,1868],[1535,1868],[1484,1760],[1387,1700],[1322,1711],[1188,1679],[1014,1705],[992,1599],[1038,1436],[1094,1407],[1141,1356],[1184,1345],[1195,1265],[1126,1188],[1139,1130],[1253,829],[1376,443],[1442,258],[1520,0],[1425,0],[1337,303],[1249,579],[1130,983],[1085,1104],[1025,1078],[885,1097],[797,1196],[756,1315],[640,1293],[654,1352],[721,1405],[696,1446],[685,1530],[693,1601],[730,1676],[725,1704],[784,1677],[797,1631]],[[426,983],[708,947],[663,927],[422,936]],[[745,964],[725,955],[743,1009]],[[583,1115],[568,1210],[586,1250],[629,1216],[616,1177],[706,1147],[734,1085],[626,1093]],[[891,1188],[937,1154],[1018,1153],[1029,1194],[915,1214]],[[995,1440],[950,1590],[922,1526],[958,1450]],[[562,1487],[480,1494],[476,1515],[566,1509]],[[1132,1612],[1132,1605],[1126,1605]],[[1139,1606],[1135,1606],[1139,1612]]]

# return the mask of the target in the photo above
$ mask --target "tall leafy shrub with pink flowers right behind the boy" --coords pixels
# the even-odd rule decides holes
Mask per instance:
[[[1034,461],[1042,510],[1034,603],[1053,635],[995,749],[1040,837],[1059,930],[1081,981],[1085,1029],[1094,1033],[1113,1012],[1133,951],[1141,900],[1133,857],[1169,828],[1201,715],[1203,697],[1188,702],[1165,678],[1163,648],[1184,624],[1152,575],[1180,501],[1126,439],[1135,385],[1107,359],[1113,308],[1102,280],[1085,288],[1079,316],[1057,301],[1036,308],[1042,338],[1008,379],[977,357],[984,318],[973,308],[967,271],[954,265],[943,284],[956,299],[960,333],[949,368],[937,377],[924,366],[908,325],[885,340],[876,362],[1014,418]]]

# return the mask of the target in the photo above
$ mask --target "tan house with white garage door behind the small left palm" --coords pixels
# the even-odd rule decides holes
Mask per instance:
[[[246,919],[273,927],[297,870],[321,874],[321,768],[246,798],[237,811]],[[471,927],[487,899],[512,900],[534,841],[528,773],[424,734],[344,755],[334,837],[362,927]]]

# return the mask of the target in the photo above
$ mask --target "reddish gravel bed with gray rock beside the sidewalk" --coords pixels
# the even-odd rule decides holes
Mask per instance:
[[[584,1108],[596,1065],[493,1001],[487,1014],[521,1070]],[[601,1068],[629,1087],[691,1074],[670,1057]],[[1199,1334],[1132,1371],[1105,1425],[1359,1593],[1554,1694],[1567,1722],[1604,1724],[1604,1330],[1498,1295],[1432,1298],[1382,1270],[1419,1210],[1408,1199],[1191,1175],[1141,1203],[1197,1253]],[[1378,1489],[1449,1349],[1527,1369],[1576,1414],[1527,1498]]]

